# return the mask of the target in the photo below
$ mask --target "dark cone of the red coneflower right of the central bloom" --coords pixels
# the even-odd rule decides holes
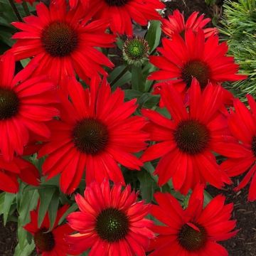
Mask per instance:
[[[208,146],[210,134],[206,125],[197,120],[188,119],[178,124],[174,131],[174,140],[181,151],[187,154],[198,154]]]

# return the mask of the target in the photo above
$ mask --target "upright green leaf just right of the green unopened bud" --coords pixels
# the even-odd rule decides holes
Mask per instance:
[[[161,38],[161,22],[151,21],[149,30],[146,33],[145,39],[149,43],[150,53],[159,46]]]

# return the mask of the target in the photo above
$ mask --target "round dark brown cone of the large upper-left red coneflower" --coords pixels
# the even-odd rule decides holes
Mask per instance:
[[[42,33],[42,43],[53,57],[69,55],[78,46],[78,34],[68,23],[54,21]]]

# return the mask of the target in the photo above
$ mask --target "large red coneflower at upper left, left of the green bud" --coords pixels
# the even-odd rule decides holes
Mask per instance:
[[[37,65],[33,75],[49,75],[58,85],[75,73],[83,80],[107,75],[102,65],[113,64],[95,47],[113,46],[114,36],[105,33],[108,22],[82,20],[82,8],[68,10],[65,0],[51,1],[49,8],[37,4],[36,11],[38,16],[23,18],[25,23],[12,23],[21,30],[13,36],[16,60],[33,57],[28,63]]]

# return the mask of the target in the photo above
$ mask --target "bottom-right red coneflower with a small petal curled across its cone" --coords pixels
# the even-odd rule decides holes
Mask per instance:
[[[218,241],[228,240],[236,221],[230,220],[233,203],[225,205],[225,196],[216,196],[203,208],[203,186],[198,185],[183,210],[170,193],[155,193],[159,206],[152,206],[151,214],[164,225],[154,227],[159,235],[152,241],[150,256],[228,256]]]

